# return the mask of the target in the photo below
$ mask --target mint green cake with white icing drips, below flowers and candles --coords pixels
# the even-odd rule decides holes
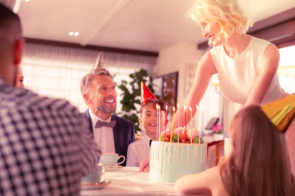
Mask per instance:
[[[149,181],[174,183],[183,175],[206,170],[207,145],[153,141],[149,165]]]

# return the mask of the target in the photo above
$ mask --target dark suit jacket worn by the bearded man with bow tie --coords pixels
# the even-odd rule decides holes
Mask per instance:
[[[92,122],[89,115],[89,109],[87,109],[83,113],[83,117],[89,123],[89,129],[93,134]],[[127,149],[129,144],[135,141],[135,131],[134,125],[131,121],[123,119],[121,117],[115,116],[112,114],[112,121],[116,121],[116,126],[113,128],[114,132],[114,142],[115,142],[115,150],[116,153],[120,156],[123,155],[125,157],[125,162],[120,164],[121,166],[126,166],[127,159]],[[120,158],[118,162],[123,161],[123,158]]]

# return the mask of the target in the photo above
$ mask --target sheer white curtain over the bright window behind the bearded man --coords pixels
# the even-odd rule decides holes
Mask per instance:
[[[21,66],[24,84],[40,95],[64,98],[83,112],[87,106],[80,92],[80,80],[89,73],[98,56],[98,51],[73,49],[39,44],[26,44]],[[129,74],[140,69],[153,70],[156,57],[101,52],[105,65],[114,81],[130,81]],[[117,112],[121,110],[121,91],[117,88]]]

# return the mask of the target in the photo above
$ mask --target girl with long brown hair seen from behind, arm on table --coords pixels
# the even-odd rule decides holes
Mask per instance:
[[[231,124],[233,151],[228,160],[205,172],[177,180],[183,195],[295,196],[286,140],[260,106],[239,111]]]

